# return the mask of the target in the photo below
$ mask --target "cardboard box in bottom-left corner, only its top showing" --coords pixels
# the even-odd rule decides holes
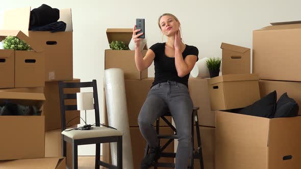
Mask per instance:
[[[36,159],[21,159],[0,161],[0,169],[7,168],[22,168],[22,169],[66,169],[65,157],[52,157],[52,158],[36,158]]]

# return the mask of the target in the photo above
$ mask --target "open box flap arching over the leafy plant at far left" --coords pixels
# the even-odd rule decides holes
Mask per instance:
[[[4,40],[7,36],[14,36],[18,37],[19,39],[25,41],[32,49],[34,49],[36,52],[44,51],[42,46],[33,39],[29,38],[26,34],[24,34],[22,31],[17,30],[0,30],[0,41]]]

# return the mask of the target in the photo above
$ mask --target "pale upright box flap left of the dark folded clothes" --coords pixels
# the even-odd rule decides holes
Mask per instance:
[[[31,8],[18,8],[4,11],[3,30],[21,31],[29,36],[29,21]]]

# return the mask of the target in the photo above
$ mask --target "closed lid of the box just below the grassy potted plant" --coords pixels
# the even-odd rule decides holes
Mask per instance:
[[[259,80],[259,75],[253,74],[225,74],[217,77],[213,77],[208,80],[210,85],[225,81],[248,81],[248,80]]]

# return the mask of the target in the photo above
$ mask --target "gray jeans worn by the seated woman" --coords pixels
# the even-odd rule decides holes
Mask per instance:
[[[140,131],[150,147],[159,144],[153,123],[170,110],[178,134],[178,150],[175,156],[175,168],[188,167],[191,150],[191,116],[193,103],[189,91],[182,83],[167,81],[150,89],[140,110],[138,123]]]

